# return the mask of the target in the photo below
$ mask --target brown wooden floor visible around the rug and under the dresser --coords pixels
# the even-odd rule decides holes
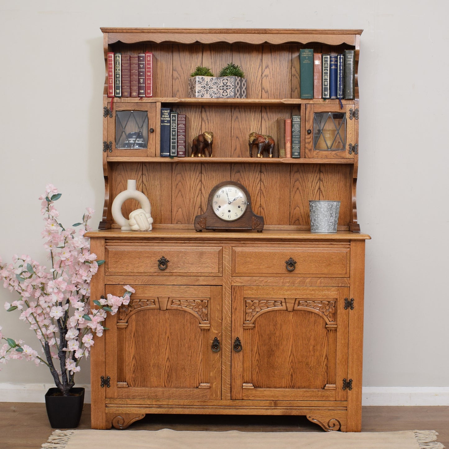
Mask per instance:
[[[362,431],[436,430],[449,449],[449,407],[363,407]],[[90,428],[90,404],[84,405],[79,429]],[[322,432],[305,417],[226,415],[146,415],[128,430],[240,430],[252,432]],[[0,402],[0,448],[40,448],[53,429],[45,404]],[[100,448],[98,448],[100,449]]]

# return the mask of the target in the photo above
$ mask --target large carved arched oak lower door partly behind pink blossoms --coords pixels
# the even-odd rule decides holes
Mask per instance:
[[[221,340],[221,287],[133,287],[129,304],[106,319],[106,396],[220,399],[221,352],[211,346]]]

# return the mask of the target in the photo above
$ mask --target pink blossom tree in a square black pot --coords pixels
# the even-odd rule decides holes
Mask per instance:
[[[91,308],[89,283],[104,260],[89,250],[88,220],[92,209],[87,208],[78,232],[64,228],[58,220],[54,202],[61,197],[49,184],[42,200],[41,213],[45,227],[42,232],[44,248],[51,268],[40,265],[29,255],[13,257],[12,264],[0,258],[0,278],[4,287],[17,292],[19,299],[6,303],[8,312],[17,311],[19,319],[31,325],[39,341],[40,351],[22,340],[7,338],[0,326],[0,363],[10,359],[26,359],[36,365],[47,365],[55,388],[45,395],[48,418],[53,428],[77,427],[84,402],[84,388],[74,387],[79,362],[89,355],[93,335],[101,336],[106,313],[114,314],[122,304],[128,304],[134,290],[125,286],[123,297],[107,295],[93,301]],[[3,340],[3,341],[2,341]],[[1,343],[5,342],[3,345]]]

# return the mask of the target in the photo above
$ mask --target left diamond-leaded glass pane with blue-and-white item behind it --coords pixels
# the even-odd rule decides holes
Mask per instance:
[[[146,111],[117,111],[115,114],[115,148],[148,147]]]

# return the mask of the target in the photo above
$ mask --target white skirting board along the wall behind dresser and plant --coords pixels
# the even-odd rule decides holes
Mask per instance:
[[[90,403],[90,385],[84,402]],[[0,383],[0,402],[45,402],[53,383]],[[449,387],[363,387],[362,405],[449,405]]]

